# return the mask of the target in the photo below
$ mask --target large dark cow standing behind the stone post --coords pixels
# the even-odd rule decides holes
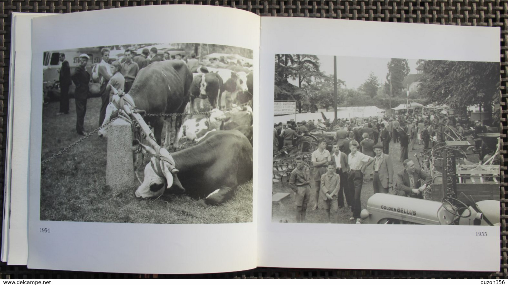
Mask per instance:
[[[181,60],[164,60],[153,62],[139,71],[138,76],[129,91],[137,110],[143,110],[146,114],[155,113],[183,113],[189,101],[190,85],[193,76],[185,63]],[[116,102],[111,102],[106,110],[106,119],[103,125],[110,120],[111,114],[117,108]],[[179,132],[182,118],[176,116],[149,117],[147,122],[153,126],[155,140],[161,145],[161,134],[166,122],[166,138],[164,147],[169,148],[171,133],[174,133],[172,147],[179,148],[176,135]],[[107,128],[99,131],[100,137],[107,136]]]

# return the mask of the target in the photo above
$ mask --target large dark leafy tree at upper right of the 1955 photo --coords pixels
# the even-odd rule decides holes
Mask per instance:
[[[499,101],[499,63],[479,61],[425,60],[418,92],[428,103],[457,109],[480,105],[492,112]]]

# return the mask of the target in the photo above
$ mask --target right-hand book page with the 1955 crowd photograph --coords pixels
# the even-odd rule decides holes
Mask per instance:
[[[499,269],[498,28],[263,18],[260,52],[258,266]]]

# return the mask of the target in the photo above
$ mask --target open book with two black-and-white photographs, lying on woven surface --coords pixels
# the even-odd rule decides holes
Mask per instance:
[[[12,26],[9,264],[499,268],[499,28],[189,5]]]

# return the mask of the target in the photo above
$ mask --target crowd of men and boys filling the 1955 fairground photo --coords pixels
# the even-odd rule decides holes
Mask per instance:
[[[464,128],[454,116],[435,113],[412,113],[383,118],[314,120],[274,125],[273,149],[280,150],[295,143],[303,133],[316,128],[335,131],[332,153],[326,149],[325,139],[320,139],[317,149],[311,153],[312,170],[305,165],[305,157],[298,155],[289,185],[296,193],[296,221],[305,221],[307,204],[314,201],[311,210],[318,208],[321,197],[330,223],[338,221],[338,209],[351,208],[353,223],[361,224],[362,185],[372,181],[373,193],[387,193],[412,198],[423,198],[422,193],[431,183],[429,173],[415,167],[408,158],[408,151],[415,144],[423,144],[423,150],[437,142],[464,138]],[[474,134],[486,133],[481,121],[475,122]],[[400,144],[403,170],[394,174],[390,156],[390,142]],[[365,176],[365,177],[364,177]],[[313,199],[310,199],[313,198]],[[345,202],[344,203],[344,198]]]

